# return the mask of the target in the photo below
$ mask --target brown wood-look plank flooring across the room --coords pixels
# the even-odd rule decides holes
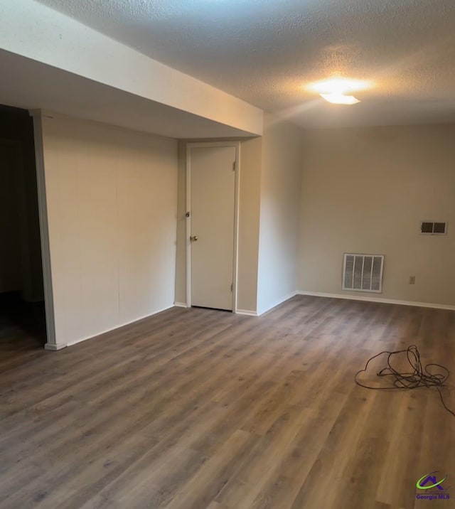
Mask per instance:
[[[175,308],[58,352],[0,336],[0,508],[412,509],[432,471],[453,487],[432,507],[455,507],[436,390],[353,382],[412,343],[455,375],[454,340],[453,311],[309,296],[259,318]]]

